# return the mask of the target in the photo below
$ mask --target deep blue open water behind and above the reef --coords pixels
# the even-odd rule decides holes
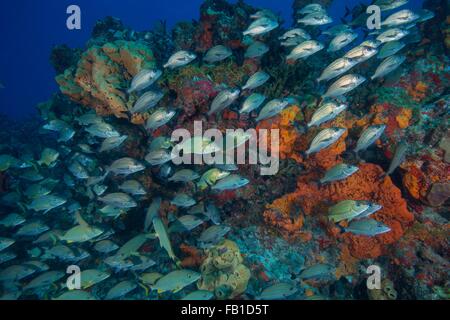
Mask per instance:
[[[67,44],[83,47],[90,38],[95,22],[111,15],[125,25],[141,31],[149,30],[158,20],[169,27],[182,20],[199,18],[202,0],[14,0],[0,3],[0,113],[23,118],[35,112],[37,103],[57,92],[55,72],[49,56],[53,46]],[[235,2],[235,1],[231,1]],[[286,25],[292,24],[291,0],[248,0],[247,3],[280,12]],[[368,1],[338,0],[330,14],[339,21],[345,6]],[[422,0],[411,0],[410,8],[419,7]],[[82,29],[66,28],[66,8],[77,4],[82,11]]]

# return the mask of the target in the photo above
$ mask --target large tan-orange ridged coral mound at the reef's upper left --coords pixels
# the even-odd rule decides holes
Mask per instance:
[[[94,45],[56,77],[61,92],[71,100],[94,108],[100,115],[126,118],[130,79],[143,68],[154,68],[151,49],[143,42],[118,40]]]

